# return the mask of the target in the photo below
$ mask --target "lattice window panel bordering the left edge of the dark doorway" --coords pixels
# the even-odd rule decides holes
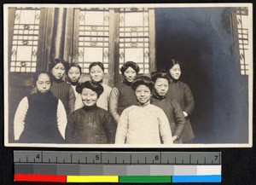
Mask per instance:
[[[125,61],[134,61],[140,73],[149,69],[148,9],[120,9],[119,14],[119,68]]]

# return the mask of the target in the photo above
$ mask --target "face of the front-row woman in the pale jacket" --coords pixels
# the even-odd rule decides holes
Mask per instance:
[[[135,95],[136,95],[137,101],[139,101],[143,105],[150,100],[151,91],[146,85],[141,84],[137,86],[137,89],[135,90]]]

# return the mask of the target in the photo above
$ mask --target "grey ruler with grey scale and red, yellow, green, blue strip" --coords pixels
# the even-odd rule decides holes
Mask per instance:
[[[220,152],[14,151],[15,182],[221,182]]]

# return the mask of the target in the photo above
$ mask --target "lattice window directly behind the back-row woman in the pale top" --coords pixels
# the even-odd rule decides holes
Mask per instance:
[[[102,61],[108,73],[108,9],[80,9],[79,65],[89,72],[91,62]]]

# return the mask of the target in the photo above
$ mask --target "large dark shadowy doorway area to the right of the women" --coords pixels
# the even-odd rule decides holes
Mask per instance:
[[[158,70],[174,58],[195,98],[198,143],[247,143],[247,76],[233,54],[230,9],[156,9]]]

